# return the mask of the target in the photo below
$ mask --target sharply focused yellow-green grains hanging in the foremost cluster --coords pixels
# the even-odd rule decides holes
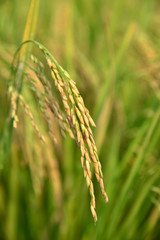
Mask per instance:
[[[74,138],[77,141],[77,144],[81,150],[81,164],[91,196],[91,212],[94,220],[97,221],[97,215],[95,211],[96,205],[94,186],[90,170],[91,162],[94,165],[95,176],[97,178],[97,181],[99,182],[101,192],[106,202],[108,202],[108,197],[104,190],[103,173],[97,155],[97,148],[93,138],[93,133],[90,127],[90,125],[92,127],[95,127],[95,123],[91,118],[88,109],[84,105],[84,101],[80,96],[75,82],[70,78],[68,73],[61,68],[64,76],[66,77],[65,81],[63,75],[61,75],[58,71],[55,63],[52,62],[50,58],[47,58],[47,62],[49,67],[51,68],[51,73],[55,82],[55,86],[57,87],[62,97],[68,126],[73,129]]]

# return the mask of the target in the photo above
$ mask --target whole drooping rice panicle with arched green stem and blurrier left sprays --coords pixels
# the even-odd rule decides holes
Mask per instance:
[[[76,83],[71,79],[70,75],[65,70],[63,70],[63,68],[60,65],[58,65],[58,63],[53,58],[53,56],[42,44],[36,41],[28,40],[21,44],[21,46],[17,50],[17,53],[25,43],[29,43],[29,42],[32,42],[33,44],[38,46],[38,48],[43,52],[45,59],[47,61],[47,64],[50,68],[51,76],[54,81],[55,87],[60,93],[63,106],[65,109],[66,115],[64,116],[60,110],[59,104],[57,103],[57,101],[55,101],[53,97],[52,87],[50,82],[45,77],[43,65],[39,62],[39,60],[36,57],[31,55],[31,60],[38,65],[38,69],[37,68],[35,69],[33,67],[30,67],[30,69],[36,74],[38,80],[41,82],[44,88],[44,95],[42,97],[43,101],[40,103],[40,105],[43,109],[45,119],[50,128],[50,118],[46,110],[47,109],[46,106],[48,106],[51,109],[51,111],[54,113],[55,117],[57,118],[60,127],[62,127],[63,125],[62,130],[64,129],[68,130],[68,132],[70,133],[70,136],[76,140],[81,150],[81,165],[83,168],[84,177],[86,179],[86,184],[87,184],[87,187],[89,188],[89,192],[91,196],[90,209],[91,209],[91,213],[93,215],[94,221],[96,222],[97,214],[95,211],[96,204],[95,204],[94,186],[92,182],[91,163],[94,166],[94,173],[99,183],[101,193],[104,196],[105,202],[106,203],[108,202],[108,197],[104,190],[102,167],[98,158],[97,148],[96,148],[96,144],[95,144],[92,129],[91,129],[91,127],[95,127],[96,125],[93,119],[91,118],[88,109],[84,104],[84,101],[76,87]],[[36,92],[36,85],[34,90]],[[38,98],[41,97],[41,96],[38,96],[38,94],[36,95]],[[20,99],[21,105],[23,105],[25,109],[26,114],[30,117],[31,123],[35,128],[38,136],[42,141],[44,141],[44,138],[40,134],[38,127],[33,120],[33,116],[29,111],[29,106],[24,103],[22,96],[19,96],[19,99]],[[66,124],[67,124],[67,127],[66,127]],[[53,135],[51,131],[50,131],[50,134],[51,136]]]

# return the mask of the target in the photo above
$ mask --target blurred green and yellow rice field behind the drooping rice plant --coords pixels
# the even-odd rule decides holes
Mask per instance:
[[[96,122],[109,203],[93,178],[94,224],[79,148],[56,124],[53,145],[33,94],[24,91],[48,141],[40,142],[19,109],[20,122],[0,159],[0,240],[160,239],[160,1],[35,2],[31,37],[70,73]],[[30,4],[0,0],[0,141],[10,66]]]

